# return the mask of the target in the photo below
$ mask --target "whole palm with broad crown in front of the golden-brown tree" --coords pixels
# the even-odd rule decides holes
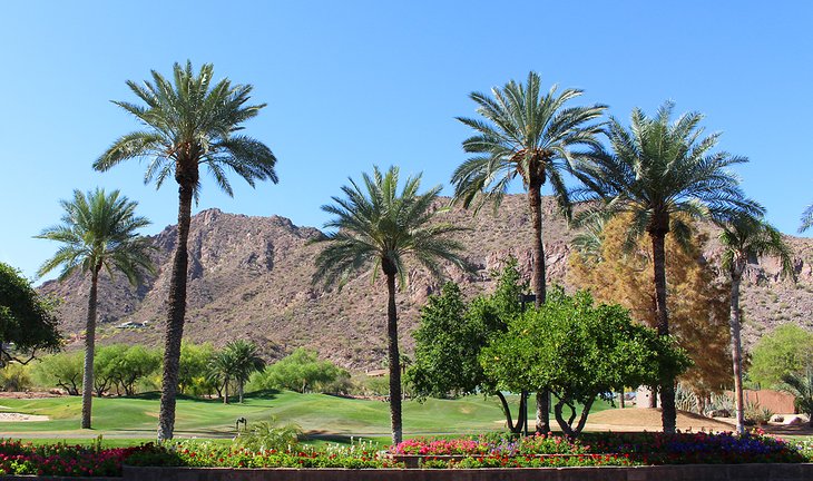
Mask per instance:
[[[655,312],[660,335],[669,335],[666,308],[666,235],[685,244],[690,234],[686,218],[729,218],[739,213],[758,215],[737,177],[727,167],[747,161],[728,153],[712,153],[719,134],[703,137],[703,116],[685,114],[670,122],[673,104],[664,104],[654,118],[634,109],[626,129],[611,118],[607,137],[610,150],[594,146],[580,158],[578,174],[586,200],[604,200],[608,215],[629,213],[629,245],[644,233],[653,249]],[[674,380],[660,386],[663,426],[675,431]]]

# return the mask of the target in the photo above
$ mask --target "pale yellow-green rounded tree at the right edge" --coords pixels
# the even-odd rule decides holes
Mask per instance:
[[[783,324],[762,336],[751,351],[748,379],[762,387],[775,387],[787,374],[802,374],[813,365],[813,333]]]

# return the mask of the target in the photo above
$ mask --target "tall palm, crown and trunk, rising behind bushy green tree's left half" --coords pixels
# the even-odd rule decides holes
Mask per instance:
[[[542,186],[550,180],[560,208],[570,215],[570,197],[562,175],[572,173],[574,148],[598,147],[601,131],[595,124],[604,105],[566,107],[582,90],[568,88],[559,94],[557,86],[541,89],[539,75],[531,71],[525,85],[511,80],[491,89],[491,96],[472,92],[482,119],[458,117],[474,135],[463,140],[467,153],[477,154],[452,174],[454,199],[463,207],[491,199],[500,204],[511,180],[519,177],[528,193],[528,207],[533,225],[532,285],[536,305],[545,303],[545,247],[542,244]],[[548,432],[549,395],[537,394],[537,431]]]

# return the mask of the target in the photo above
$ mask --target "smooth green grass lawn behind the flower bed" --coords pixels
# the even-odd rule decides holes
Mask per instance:
[[[509,401],[516,409],[516,396],[509,397]],[[597,402],[591,412],[607,408],[609,404]],[[2,423],[0,430],[7,438],[67,440],[101,434],[107,442],[117,438],[148,441],[155,439],[157,429],[158,395],[94,399],[94,430],[90,431],[78,429],[81,399],[77,396],[6,399],[0,412],[50,418],[50,421],[41,422]],[[385,438],[390,430],[390,411],[385,402],[284,391],[249,395],[244,404],[224,405],[216,400],[179,399],[175,432],[182,438],[231,438],[235,434],[235,420],[238,418],[246,418],[251,425],[268,420],[271,415],[283,423],[298,424],[316,440],[342,440],[350,435]],[[533,419],[533,412],[529,415]],[[406,436],[479,433],[505,429],[505,416],[496,397],[430,399],[424,403],[404,402],[403,425]]]

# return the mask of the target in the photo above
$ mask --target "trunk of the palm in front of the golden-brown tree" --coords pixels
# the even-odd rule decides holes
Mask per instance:
[[[669,335],[669,318],[666,311],[666,233],[650,232],[653,243],[653,274],[655,275],[655,316],[658,334]],[[675,408],[675,380],[666,379],[660,385],[660,421],[665,433],[674,433],[677,424]]]

